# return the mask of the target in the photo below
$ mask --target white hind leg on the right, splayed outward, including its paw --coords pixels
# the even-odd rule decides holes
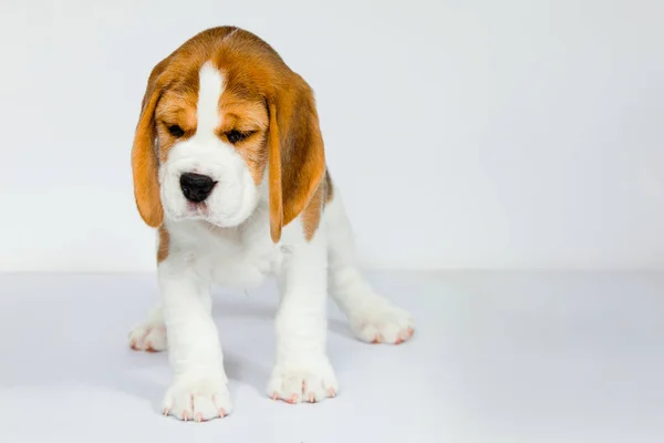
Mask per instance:
[[[370,343],[400,344],[413,336],[413,318],[376,293],[355,265],[351,225],[338,189],[325,207],[330,293],[349,318],[355,337]]]

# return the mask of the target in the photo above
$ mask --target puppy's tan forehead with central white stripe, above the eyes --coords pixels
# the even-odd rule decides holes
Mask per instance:
[[[158,122],[197,132],[267,127],[263,95],[248,73],[206,61],[198,69],[174,72],[170,76],[155,111]]]

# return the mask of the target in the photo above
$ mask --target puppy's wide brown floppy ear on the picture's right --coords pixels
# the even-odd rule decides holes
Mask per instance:
[[[301,78],[295,83],[269,100],[270,235],[274,243],[281,238],[281,228],[309,205],[325,174],[313,93]]]

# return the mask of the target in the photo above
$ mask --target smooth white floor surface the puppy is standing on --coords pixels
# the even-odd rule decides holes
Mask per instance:
[[[215,292],[235,412],[158,413],[165,353],[129,350],[154,276],[0,276],[0,442],[662,442],[664,274],[374,272],[415,316],[402,346],[330,310],[341,392],[264,395],[277,292]]]

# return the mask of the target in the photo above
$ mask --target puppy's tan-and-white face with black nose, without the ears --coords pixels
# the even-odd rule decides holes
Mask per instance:
[[[258,203],[268,111],[260,96],[240,96],[228,80],[206,62],[197,92],[186,80],[175,82],[157,104],[160,197],[173,220],[237,226]]]

